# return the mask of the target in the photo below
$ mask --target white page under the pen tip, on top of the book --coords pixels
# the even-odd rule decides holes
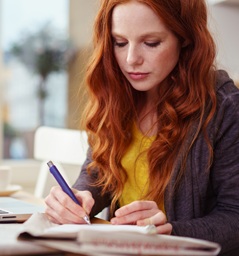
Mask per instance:
[[[142,234],[156,234],[154,225],[139,227],[136,225],[109,225],[109,224],[64,224],[57,227],[50,227],[44,230],[45,234],[52,233],[77,233],[81,230],[101,231],[101,232],[134,232]]]

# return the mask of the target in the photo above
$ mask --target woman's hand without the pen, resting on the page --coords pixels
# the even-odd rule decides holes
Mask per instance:
[[[171,234],[173,228],[170,223],[166,223],[166,216],[153,201],[134,201],[118,209],[115,216],[110,220],[113,225],[146,226],[153,224],[156,226],[158,234],[168,235]]]

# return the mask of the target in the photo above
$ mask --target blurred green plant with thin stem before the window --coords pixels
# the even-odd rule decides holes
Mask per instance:
[[[48,96],[46,80],[52,72],[66,70],[75,56],[75,48],[68,38],[64,38],[49,24],[38,32],[25,34],[15,43],[11,53],[19,58],[41,79],[37,90],[39,98],[39,124],[44,124],[44,101]]]

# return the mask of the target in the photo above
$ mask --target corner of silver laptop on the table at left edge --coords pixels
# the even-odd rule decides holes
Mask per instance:
[[[23,222],[34,212],[45,213],[45,207],[11,197],[0,197],[0,223]]]

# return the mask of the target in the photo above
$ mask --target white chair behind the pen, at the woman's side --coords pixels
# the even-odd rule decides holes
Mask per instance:
[[[87,133],[65,128],[41,126],[34,136],[34,158],[42,161],[37,178],[34,196],[45,198],[54,178],[50,174],[48,161],[52,161],[64,177],[66,183],[72,186],[62,164],[77,165],[79,172],[87,157]]]

